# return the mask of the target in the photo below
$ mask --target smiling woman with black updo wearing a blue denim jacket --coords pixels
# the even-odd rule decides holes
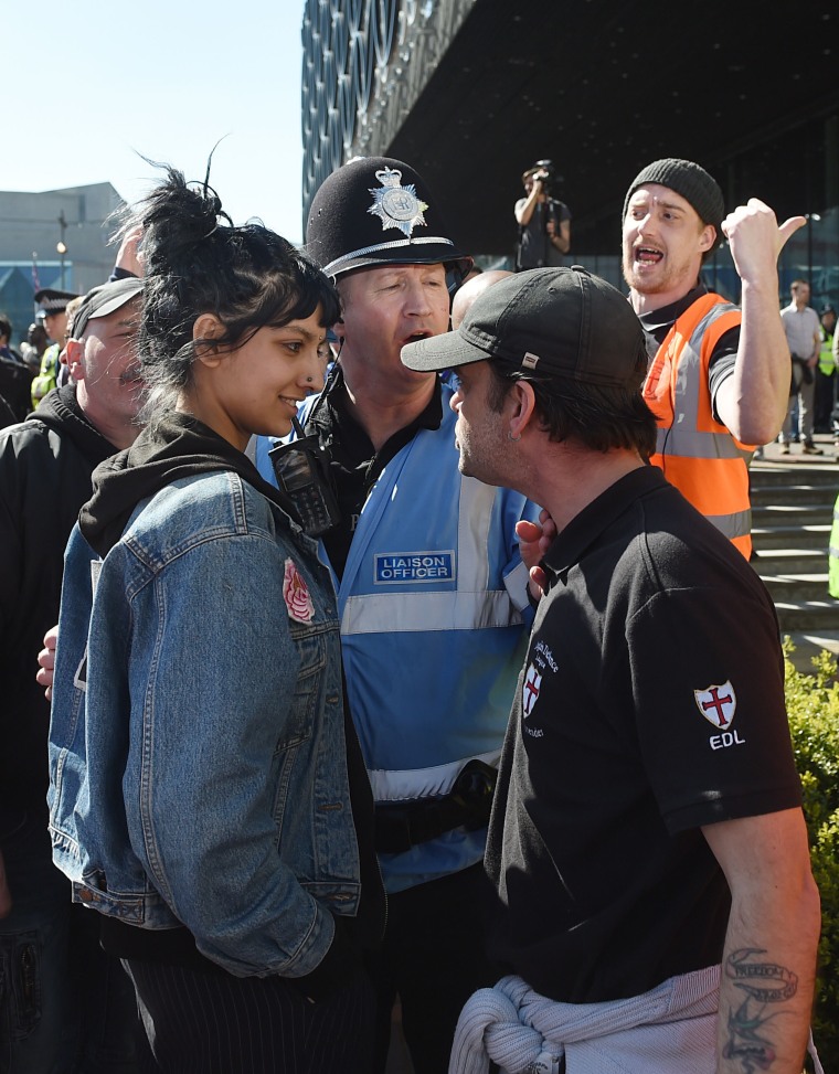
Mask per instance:
[[[67,547],[54,858],[134,980],[150,1070],[361,1074],[384,898],[334,594],[245,455],[321,387],[337,295],[171,168],[138,223],[148,424]]]

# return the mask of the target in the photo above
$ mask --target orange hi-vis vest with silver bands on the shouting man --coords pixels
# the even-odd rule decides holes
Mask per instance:
[[[658,425],[650,462],[748,559],[748,459],[754,447],[741,444],[714,418],[708,390],[713,349],[740,323],[739,307],[719,295],[697,299],[659,347],[642,395]]]

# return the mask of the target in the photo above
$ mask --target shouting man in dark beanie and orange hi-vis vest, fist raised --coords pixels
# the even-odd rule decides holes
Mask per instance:
[[[650,461],[746,557],[748,459],[777,436],[789,395],[777,258],[804,223],[778,226],[756,198],[726,216],[716,181],[673,158],[644,168],[624,201],[624,278],[651,355],[642,389],[658,424]],[[700,280],[722,235],[742,281],[740,307]]]

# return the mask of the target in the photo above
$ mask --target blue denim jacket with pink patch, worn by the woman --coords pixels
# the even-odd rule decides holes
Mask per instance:
[[[306,975],[357,913],[331,577],[240,475],[166,486],[104,560],[73,531],[50,778],[74,898],[232,974]]]

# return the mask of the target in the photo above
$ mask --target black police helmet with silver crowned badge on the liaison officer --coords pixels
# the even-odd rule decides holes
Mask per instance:
[[[309,210],[306,251],[333,279],[357,268],[452,265],[457,248],[422,176],[393,157],[357,157],[323,180]]]

